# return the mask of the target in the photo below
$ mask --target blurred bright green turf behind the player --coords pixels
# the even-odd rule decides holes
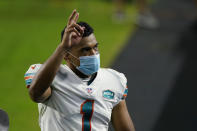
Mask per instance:
[[[24,73],[31,64],[43,63],[60,42],[60,32],[76,8],[79,20],[95,29],[101,65],[110,65],[134,30],[131,19],[111,19],[114,7],[103,1],[1,0],[0,1],[0,108],[8,112],[10,131],[37,131],[37,104],[25,88]],[[127,8],[135,14],[133,6]]]

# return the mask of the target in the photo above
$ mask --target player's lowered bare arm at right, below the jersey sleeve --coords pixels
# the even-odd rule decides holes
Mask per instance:
[[[112,124],[115,131],[135,131],[125,100],[121,101],[112,110]]]

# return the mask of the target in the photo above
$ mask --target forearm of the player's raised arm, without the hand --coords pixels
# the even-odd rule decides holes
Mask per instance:
[[[29,88],[30,96],[34,101],[39,99],[51,85],[56,72],[62,63],[64,54],[64,48],[59,45],[34,76]]]

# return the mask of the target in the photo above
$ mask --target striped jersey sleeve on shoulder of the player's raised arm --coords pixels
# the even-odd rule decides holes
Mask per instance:
[[[29,69],[25,73],[24,79],[25,79],[25,84],[27,88],[30,87],[33,77],[35,76],[37,71],[40,69],[40,67],[41,67],[41,64],[33,64],[29,67]]]

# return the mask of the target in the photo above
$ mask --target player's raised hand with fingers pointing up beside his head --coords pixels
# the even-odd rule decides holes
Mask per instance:
[[[78,18],[79,13],[76,10],[73,10],[69,17],[67,27],[64,30],[64,36],[61,43],[66,50],[69,50],[72,46],[79,44],[82,39],[85,28],[77,24]]]

